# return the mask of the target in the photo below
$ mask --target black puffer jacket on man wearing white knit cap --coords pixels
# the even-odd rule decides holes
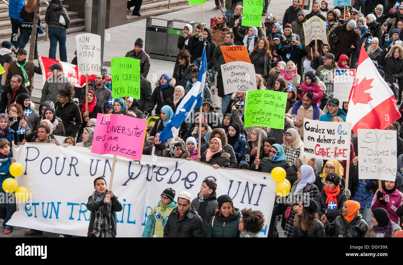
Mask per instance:
[[[164,227],[164,237],[204,237],[203,220],[193,205],[179,219],[179,210],[171,211]]]

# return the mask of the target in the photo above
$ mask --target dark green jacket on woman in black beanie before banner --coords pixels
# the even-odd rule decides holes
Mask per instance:
[[[225,222],[222,221],[221,217],[218,217],[217,213],[211,217],[207,228],[206,237],[239,237],[241,231],[239,228],[239,219],[241,219],[241,211],[235,208],[236,213],[230,215],[229,219]],[[214,223],[212,226],[212,220],[214,218]]]

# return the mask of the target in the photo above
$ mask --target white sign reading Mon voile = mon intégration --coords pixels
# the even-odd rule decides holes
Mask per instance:
[[[101,36],[83,33],[76,36],[77,62],[80,75],[101,74]]]

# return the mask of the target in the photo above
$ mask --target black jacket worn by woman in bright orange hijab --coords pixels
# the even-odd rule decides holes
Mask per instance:
[[[324,228],[328,237],[364,237],[368,230],[368,224],[357,212],[349,223],[342,215],[339,215],[331,224],[326,222]]]

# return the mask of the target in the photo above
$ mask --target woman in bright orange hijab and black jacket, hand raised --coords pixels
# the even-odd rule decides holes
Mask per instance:
[[[340,215],[338,215],[332,223],[326,218],[326,215],[322,215],[320,220],[324,225],[326,236],[348,238],[364,237],[368,231],[368,224],[362,219],[362,215],[358,212],[359,208],[358,202],[345,201]]]

